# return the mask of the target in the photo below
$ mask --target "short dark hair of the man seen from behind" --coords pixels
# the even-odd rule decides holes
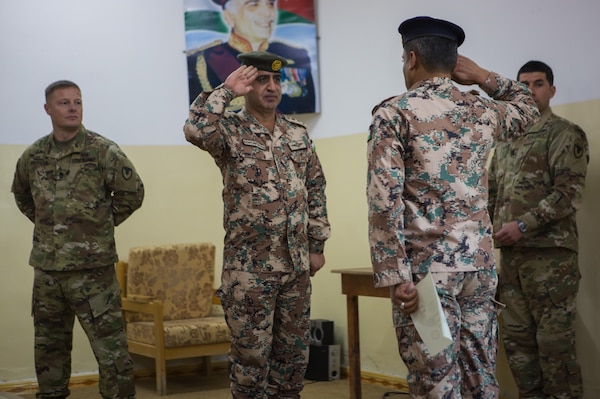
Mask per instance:
[[[445,37],[419,37],[407,42],[404,50],[414,51],[427,72],[452,72],[458,59],[456,41]]]

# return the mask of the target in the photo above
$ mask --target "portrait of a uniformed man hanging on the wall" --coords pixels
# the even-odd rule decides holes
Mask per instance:
[[[190,103],[225,81],[241,52],[288,60],[278,112],[320,112],[314,0],[183,0]],[[231,110],[243,106],[235,99]]]

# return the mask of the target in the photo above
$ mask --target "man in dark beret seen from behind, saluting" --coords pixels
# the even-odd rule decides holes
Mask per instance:
[[[527,129],[538,112],[524,86],[457,55],[459,26],[416,17],[398,30],[408,91],[374,108],[367,150],[374,284],[390,287],[411,397],[497,398],[501,305],[486,159],[496,138]],[[452,80],[478,84],[492,99]],[[419,305],[414,284],[428,272],[453,338],[439,354],[410,316]]]

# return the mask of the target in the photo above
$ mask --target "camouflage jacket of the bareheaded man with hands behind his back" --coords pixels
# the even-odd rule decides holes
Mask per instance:
[[[52,134],[28,147],[12,192],[34,223],[30,265],[55,271],[117,261],[114,226],[144,198],[142,181],[117,144],[84,127],[64,150]]]

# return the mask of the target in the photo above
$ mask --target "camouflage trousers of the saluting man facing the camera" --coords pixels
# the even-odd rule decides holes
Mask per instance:
[[[299,398],[310,345],[308,271],[224,270],[221,280],[233,398]]]

